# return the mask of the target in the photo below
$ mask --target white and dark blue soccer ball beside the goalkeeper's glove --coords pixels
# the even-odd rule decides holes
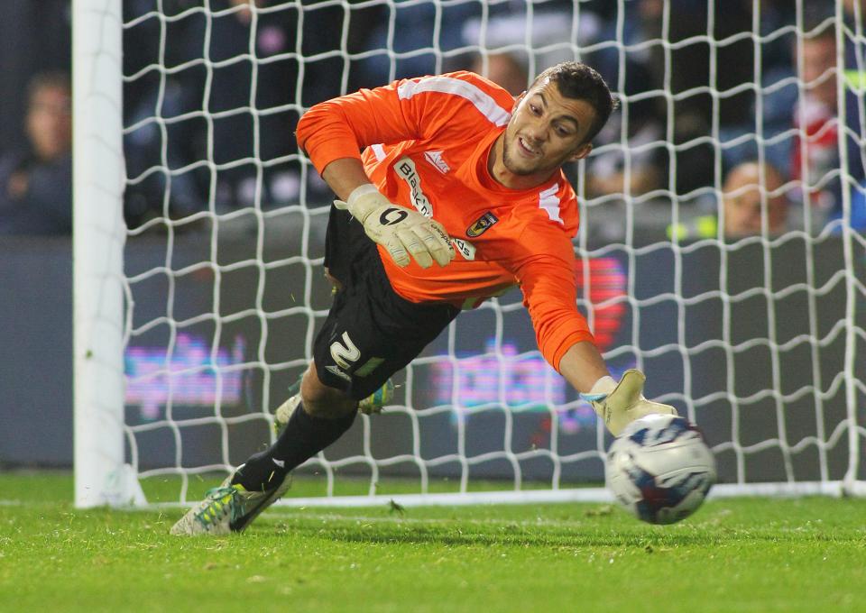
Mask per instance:
[[[685,417],[649,415],[627,425],[607,453],[607,485],[650,524],[690,516],[715,482],[715,459]]]

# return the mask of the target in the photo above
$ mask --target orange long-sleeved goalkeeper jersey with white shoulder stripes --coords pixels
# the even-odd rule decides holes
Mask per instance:
[[[298,142],[319,172],[361,158],[392,203],[445,226],[457,255],[444,268],[414,260],[401,268],[379,247],[394,291],[472,308],[519,284],[539,349],[558,370],[569,347],[593,341],[576,307],[577,201],[562,172],[521,190],[490,176],[488,155],[513,105],[502,87],[471,72],[404,79],[313,106]]]

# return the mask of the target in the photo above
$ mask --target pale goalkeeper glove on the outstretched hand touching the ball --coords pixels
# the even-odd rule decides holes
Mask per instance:
[[[642,372],[629,369],[622,373],[619,383],[610,377],[602,377],[588,394],[581,394],[580,397],[593,406],[611,434],[618,436],[626,425],[640,417],[653,413],[677,415],[676,408],[643,398],[643,383],[646,380]]]

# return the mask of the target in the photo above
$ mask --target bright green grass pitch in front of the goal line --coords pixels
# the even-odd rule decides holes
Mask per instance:
[[[180,510],[81,510],[64,474],[0,475],[3,611],[861,611],[866,500],[618,508],[277,508],[172,537]]]

